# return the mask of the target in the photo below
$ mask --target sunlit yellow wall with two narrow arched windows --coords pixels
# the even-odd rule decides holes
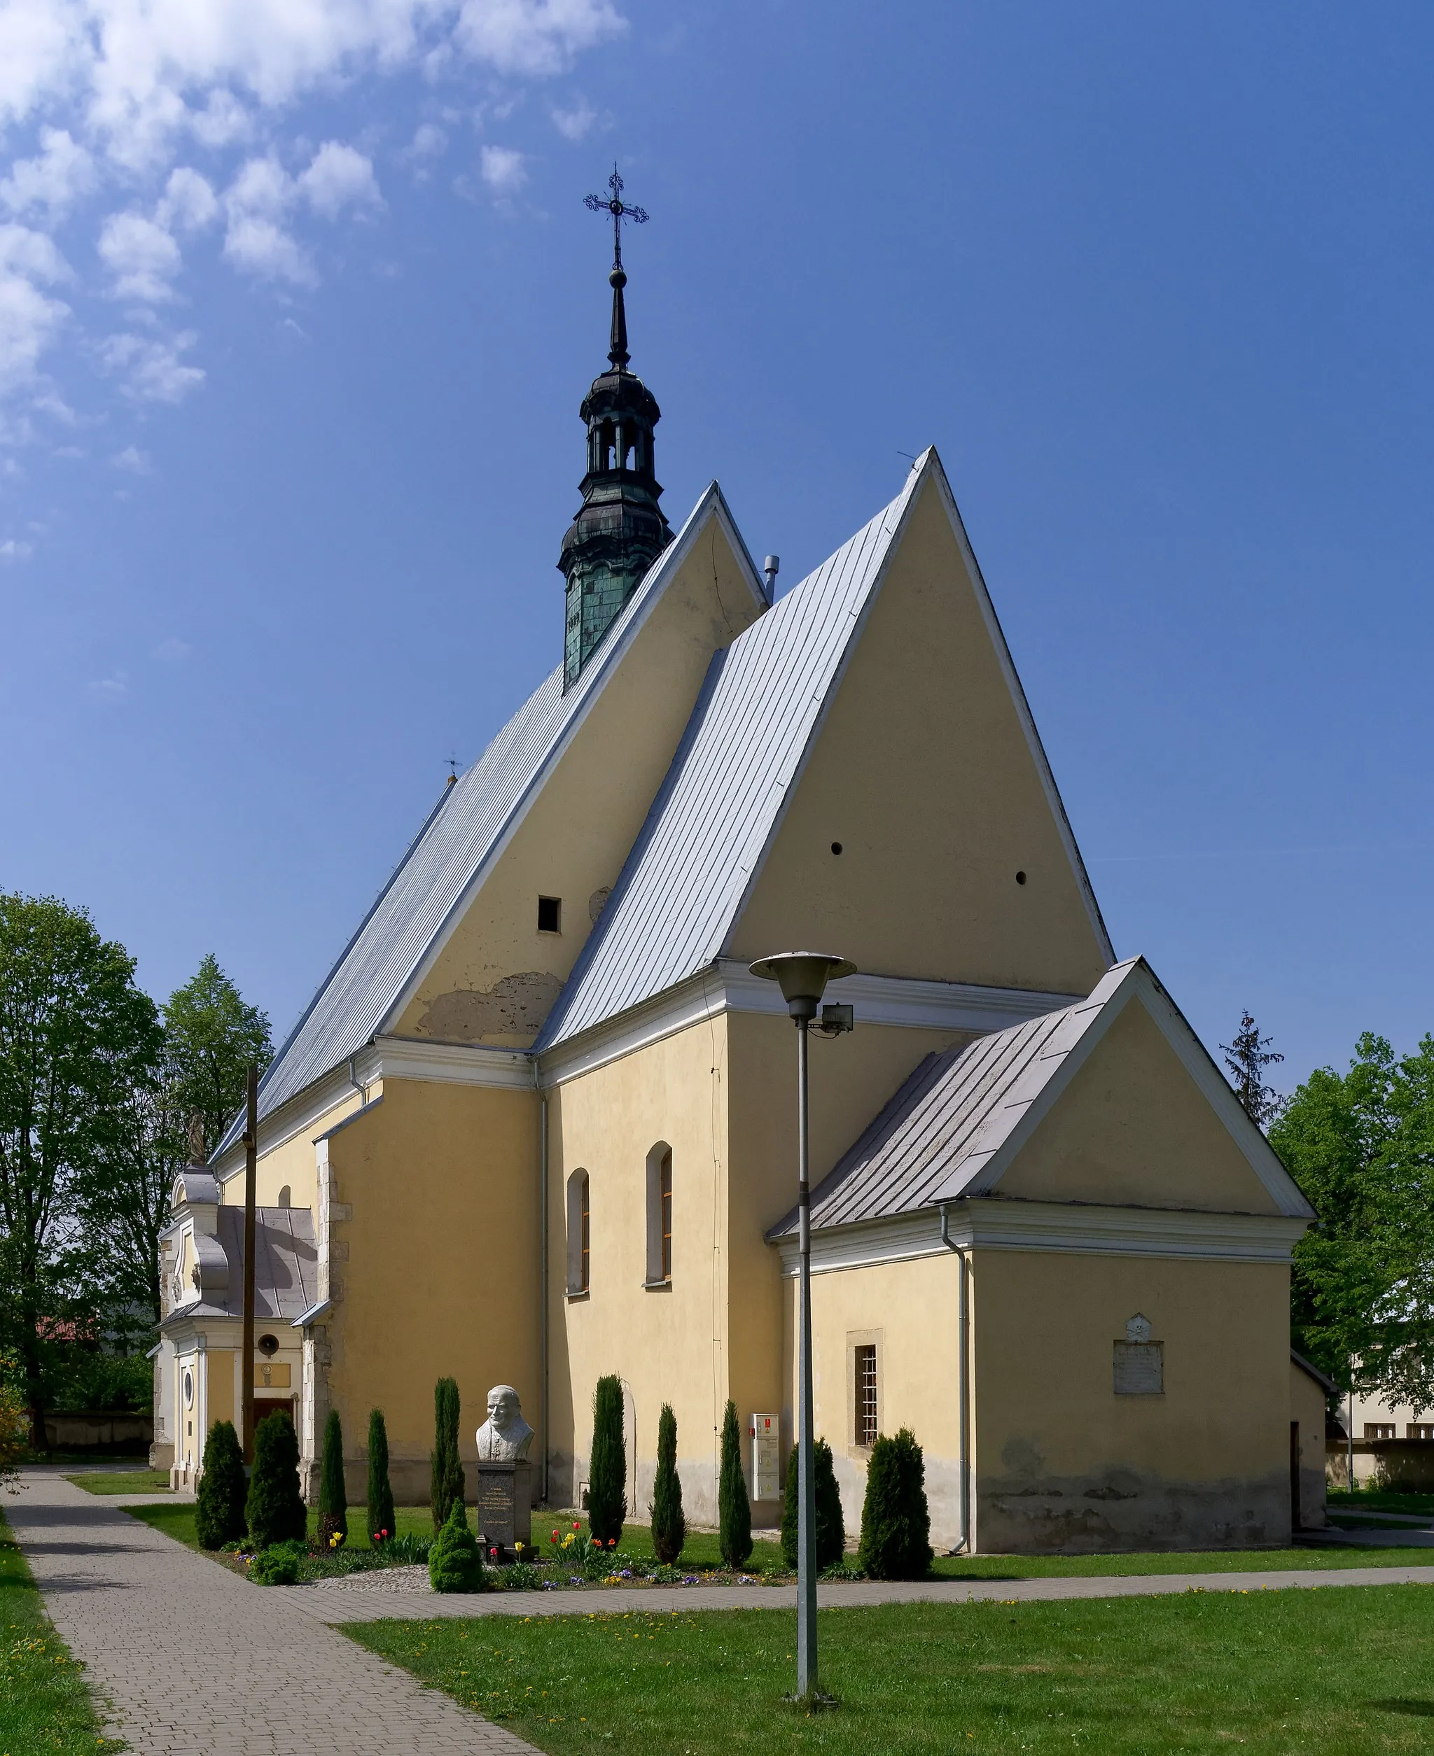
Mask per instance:
[[[671,1285],[648,1291],[647,1154],[673,1155]],[[629,1503],[647,1510],[657,1414],[677,1414],[689,1519],[715,1521],[717,1424],[728,1396],[728,1020],[692,1026],[548,1098],[552,1498],[587,1479],[592,1389],[615,1371],[629,1393],[636,1450]],[[568,1178],[589,1175],[590,1292],[569,1299]]]

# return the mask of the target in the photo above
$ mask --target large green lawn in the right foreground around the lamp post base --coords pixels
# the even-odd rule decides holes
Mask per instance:
[[[787,1610],[366,1623],[343,1631],[554,1756],[1385,1756],[1434,1742],[1418,1586],[822,1610],[812,1717]]]

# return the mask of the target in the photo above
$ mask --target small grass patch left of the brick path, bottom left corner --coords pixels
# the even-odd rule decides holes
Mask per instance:
[[[30,1756],[95,1756],[121,1751],[100,1735],[84,1686],[84,1666],[70,1658],[35,1591],[30,1568],[0,1514],[0,1751]]]

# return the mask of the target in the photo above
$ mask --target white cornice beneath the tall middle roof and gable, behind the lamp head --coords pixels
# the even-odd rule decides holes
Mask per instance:
[[[984,1036],[1023,1024],[1046,1011],[1070,1006],[1083,994],[1046,994],[1030,989],[977,987],[970,982],[923,982],[914,976],[847,976],[828,989],[833,1001],[856,1008],[858,1024],[894,1024],[923,1031],[970,1031]],[[582,1036],[545,1050],[538,1059],[540,1085],[561,1085],[620,1061],[648,1043],[675,1036],[721,1011],[756,1011],[786,1017],[775,982],[763,982],[745,964],[722,959],[666,994],[596,1024]]]

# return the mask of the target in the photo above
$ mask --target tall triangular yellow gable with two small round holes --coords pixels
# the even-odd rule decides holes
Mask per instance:
[[[889,562],[733,955],[794,943],[831,946],[875,975],[1067,994],[1088,994],[1105,969],[931,485]]]

